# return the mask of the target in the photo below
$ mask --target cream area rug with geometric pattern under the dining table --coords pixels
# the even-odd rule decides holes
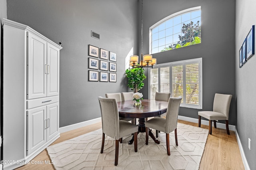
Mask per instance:
[[[155,130],[152,130],[154,134]],[[114,166],[115,140],[105,136],[103,153],[100,153],[102,129],[47,147],[56,170],[198,170],[208,129],[184,125],[177,126],[178,146],[174,132],[170,133],[170,156],[166,151],[166,135],[160,132],[156,144],[145,133],[138,134],[138,152],[128,142],[131,135],[119,143],[118,165]]]

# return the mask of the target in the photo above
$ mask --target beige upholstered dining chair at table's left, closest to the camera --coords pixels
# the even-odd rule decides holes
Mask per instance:
[[[119,142],[129,134],[134,134],[134,151],[137,152],[138,126],[127,121],[119,120],[116,99],[98,97],[102,120],[102,145],[100,153],[104,150],[105,134],[116,140],[115,166],[118,164]]]

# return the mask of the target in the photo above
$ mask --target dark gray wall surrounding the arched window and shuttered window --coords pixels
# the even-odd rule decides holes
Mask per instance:
[[[153,54],[153,57],[157,59],[157,63],[202,57],[203,110],[212,110],[215,93],[231,94],[233,97],[230,105],[229,124],[235,125],[234,0],[143,1],[143,51],[144,53],[149,51],[150,26],[175,12],[196,6],[201,6],[202,43],[156,53]],[[147,81],[145,81],[144,89],[140,92],[145,98],[148,97]],[[197,119],[198,111],[197,109],[180,108],[179,115]]]

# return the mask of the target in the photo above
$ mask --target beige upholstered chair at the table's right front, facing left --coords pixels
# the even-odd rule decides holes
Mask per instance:
[[[168,107],[166,112],[166,119],[162,117],[154,117],[145,122],[146,126],[146,144],[148,144],[148,131],[149,128],[160,130],[166,133],[166,150],[167,154],[170,155],[170,142],[169,142],[169,133],[174,131],[175,142],[178,146],[177,138],[177,122],[178,122],[178,113],[180,109],[180,101],[182,97],[169,98]]]

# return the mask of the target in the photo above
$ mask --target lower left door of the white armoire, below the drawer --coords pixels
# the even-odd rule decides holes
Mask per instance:
[[[28,154],[46,143],[46,106],[27,111]]]

